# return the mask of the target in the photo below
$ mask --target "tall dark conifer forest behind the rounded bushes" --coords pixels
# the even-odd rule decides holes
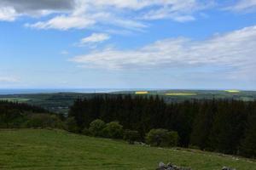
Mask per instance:
[[[256,101],[201,99],[167,104],[159,96],[98,95],[77,99],[68,117],[78,132],[90,122],[119,122],[140,140],[151,129],[175,131],[179,145],[225,154],[256,156]]]

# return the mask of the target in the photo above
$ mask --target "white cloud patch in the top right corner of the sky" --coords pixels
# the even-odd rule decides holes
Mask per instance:
[[[245,12],[250,12],[250,11],[255,11],[256,10],[256,0],[239,0],[236,4],[225,8],[231,11],[245,11]]]

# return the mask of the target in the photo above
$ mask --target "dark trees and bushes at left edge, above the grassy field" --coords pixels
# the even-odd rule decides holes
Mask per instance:
[[[63,116],[25,103],[0,100],[0,128],[63,127]]]

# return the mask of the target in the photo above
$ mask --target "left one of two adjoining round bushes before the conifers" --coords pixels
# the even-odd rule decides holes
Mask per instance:
[[[100,119],[96,119],[93,122],[90,122],[89,131],[92,136],[102,137],[103,129],[106,127],[106,123]]]

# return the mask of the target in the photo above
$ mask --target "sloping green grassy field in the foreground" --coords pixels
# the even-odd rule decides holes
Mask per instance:
[[[0,130],[0,169],[155,169],[159,161],[194,170],[255,170],[256,162],[198,150],[95,139],[61,130]]]

